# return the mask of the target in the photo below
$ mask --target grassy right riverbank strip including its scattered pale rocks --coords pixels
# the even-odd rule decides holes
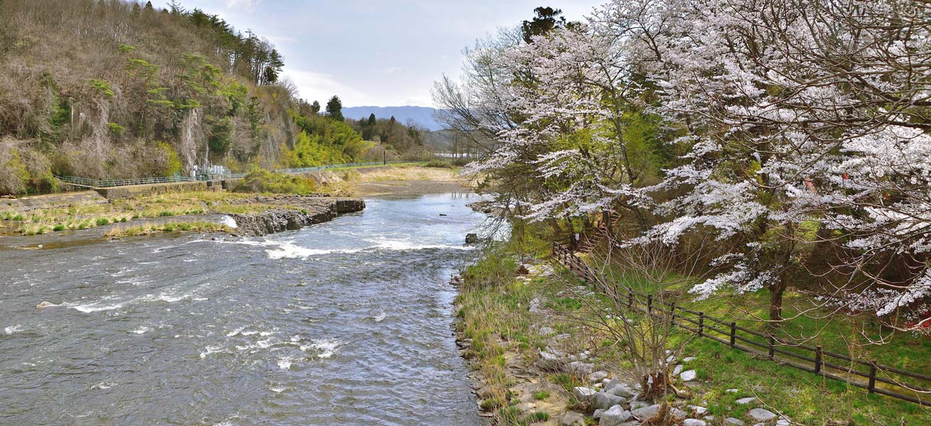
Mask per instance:
[[[688,396],[681,398],[671,392],[655,398],[641,396],[632,404],[625,403],[633,413],[629,417],[601,419],[610,405],[579,394],[578,388],[598,390],[607,384],[606,378],[619,378],[632,391],[628,397],[641,394],[642,388],[631,374],[634,366],[627,360],[627,342],[608,330],[586,325],[587,321],[598,322],[612,305],[604,297],[591,298],[596,289],[550,258],[551,232],[541,227],[531,229],[515,227],[510,240],[486,248],[479,262],[464,268],[461,278],[454,281],[460,289],[457,335],[463,342],[464,356],[478,372],[475,387],[481,408],[496,424],[742,424],[735,421],[739,420],[768,425],[779,416],[803,425],[920,425],[931,421],[931,413],[920,405],[868,395],[843,382],[731,350],[685,331],[670,335],[669,346],[681,348],[682,355],[669,369],[677,378],[684,370]],[[613,277],[627,280],[620,282],[633,288],[643,285],[632,282],[636,279],[629,273]],[[787,298],[794,302],[803,296],[790,292]],[[681,302],[708,315],[713,312],[718,318],[757,326],[758,322],[748,319],[746,309],[765,312],[767,299],[743,295],[730,303]],[[795,303],[790,306],[804,309]],[[851,322],[864,320],[854,318]],[[850,323],[809,320],[790,326],[823,329],[816,344],[834,350],[848,350],[851,340],[857,339],[856,327]],[[924,353],[931,350],[929,344],[922,337],[899,335],[886,346],[861,355],[917,371],[926,365]],[[555,358],[550,357],[553,354]],[[668,406],[677,417],[664,418],[655,410],[637,412],[652,404]],[[765,409],[776,417],[755,421],[753,415],[762,411],[751,415],[753,409]],[[700,419],[702,423],[683,423],[685,419]]]

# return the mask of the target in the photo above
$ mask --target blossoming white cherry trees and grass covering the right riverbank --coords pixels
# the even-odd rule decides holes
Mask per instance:
[[[582,21],[534,13],[467,49],[462,78],[437,82],[434,100],[484,148],[467,170],[492,207],[584,253],[603,280],[515,282],[518,265],[500,257],[524,252],[507,247],[466,269],[461,331],[494,385],[479,396],[496,419],[537,419],[512,380],[563,361],[622,375],[634,402],[657,404],[633,416],[649,425],[779,422],[762,410],[802,424],[926,424],[927,384],[912,384],[917,404],[868,395],[843,381],[843,363],[828,367],[841,381],[768,364],[622,309],[617,295],[642,288],[789,351],[927,371],[931,80],[913,76],[931,66],[931,6],[633,0]],[[533,332],[552,318],[577,330]],[[576,376],[563,397],[580,412],[608,408],[613,398],[592,391],[600,379]],[[636,410],[611,409],[600,424]]]

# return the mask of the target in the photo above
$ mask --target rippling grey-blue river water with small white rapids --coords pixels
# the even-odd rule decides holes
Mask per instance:
[[[477,425],[449,284],[474,200],[0,251],[0,424]]]

